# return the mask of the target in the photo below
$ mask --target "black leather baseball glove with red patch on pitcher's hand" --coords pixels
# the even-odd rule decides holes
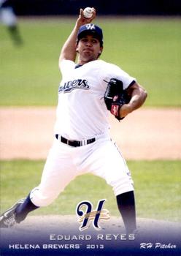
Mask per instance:
[[[112,115],[119,121],[123,118],[119,117],[120,108],[130,101],[130,97],[125,90],[123,90],[123,82],[112,78],[109,80],[107,90],[104,94],[104,102],[107,105],[107,109],[110,110]]]

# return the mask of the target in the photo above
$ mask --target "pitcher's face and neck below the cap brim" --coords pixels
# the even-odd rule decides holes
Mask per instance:
[[[77,45],[80,64],[98,59],[102,49],[103,48],[100,46],[99,39],[92,34],[82,37]]]

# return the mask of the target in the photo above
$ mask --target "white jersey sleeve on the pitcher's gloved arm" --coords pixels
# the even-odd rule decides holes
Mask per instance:
[[[123,69],[116,66],[115,64],[107,64],[107,78],[105,80],[109,81],[111,78],[116,78],[123,82],[123,89],[127,89],[128,86],[131,86],[135,81],[136,78],[128,75]]]

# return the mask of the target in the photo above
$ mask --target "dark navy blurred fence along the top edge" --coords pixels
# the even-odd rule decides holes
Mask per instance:
[[[75,15],[96,7],[99,15],[180,15],[181,0],[12,0],[17,15]]]

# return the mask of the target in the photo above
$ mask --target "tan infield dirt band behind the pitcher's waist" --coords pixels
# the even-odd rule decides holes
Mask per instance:
[[[45,159],[53,142],[55,108],[1,108],[0,159]],[[126,159],[181,159],[181,109],[140,108],[110,133]]]

